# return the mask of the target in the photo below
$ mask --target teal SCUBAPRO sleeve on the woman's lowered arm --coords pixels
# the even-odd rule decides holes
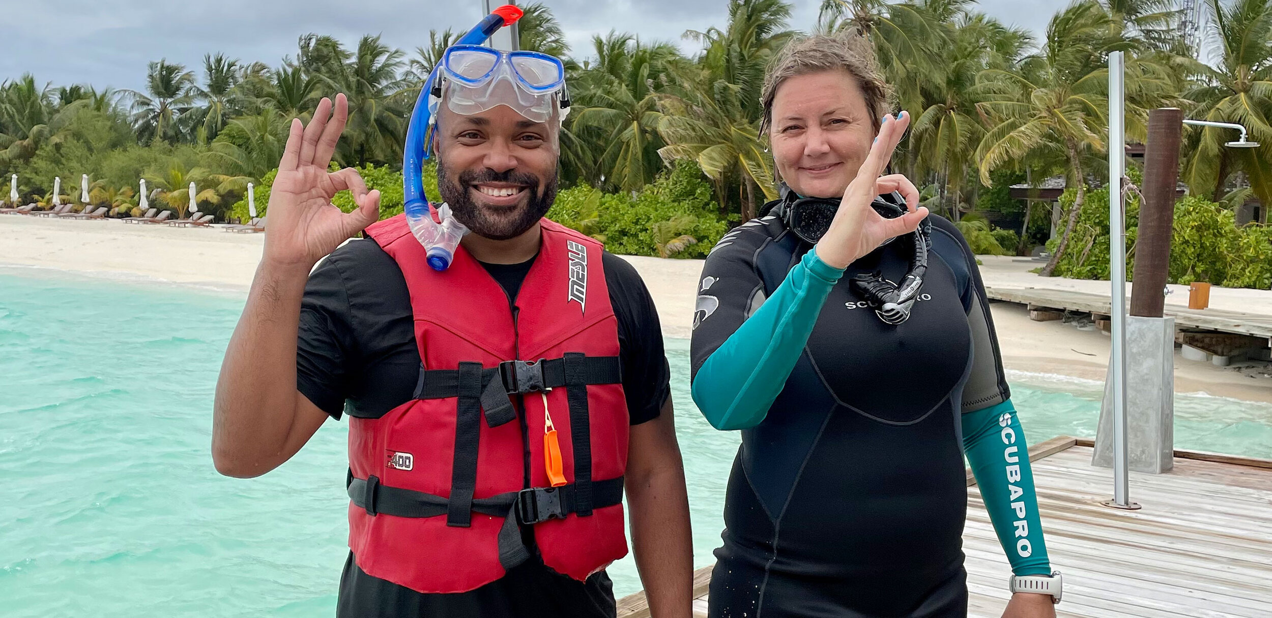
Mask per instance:
[[[1051,575],[1029,446],[1007,399],[963,415],[963,449],[1015,575]]]

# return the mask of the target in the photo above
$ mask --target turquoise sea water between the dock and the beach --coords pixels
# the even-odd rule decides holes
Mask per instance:
[[[333,613],[346,425],[261,478],[212,469],[212,390],[243,299],[0,268],[0,613]],[[688,342],[668,341],[668,357],[701,566],[738,436],[693,408]],[[1098,384],[1020,374],[1013,390],[1030,443],[1094,435]],[[1272,457],[1272,406],[1175,402],[1179,448]],[[611,576],[619,595],[640,589],[631,557]]]

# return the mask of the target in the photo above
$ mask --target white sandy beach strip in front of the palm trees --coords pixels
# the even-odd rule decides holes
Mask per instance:
[[[117,220],[78,221],[0,216],[0,266],[28,266],[104,276],[139,276],[187,285],[245,290],[261,259],[263,234],[233,234],[221,228],[186,229],[128,225]],[[702,262],[631,257],[654,296],[669,337],[688,338]],[[1040,266],[1024,258],[983,257],[986,285],[1052,287],[1107,292],[1108,282],[1042,278]],[[1187,305],[1187,286],[1172,286],[1169,304]],[[1215,287],[1211,306],[1272,314],[1272,292]],[[1023,305],[992,305],[1004,364],[1009,370],[1103,380],[1109,337],[1061,322],[1032,322]],[[1175,356],[1175,390],[1272,403],[1272,369],[1244,371]]]

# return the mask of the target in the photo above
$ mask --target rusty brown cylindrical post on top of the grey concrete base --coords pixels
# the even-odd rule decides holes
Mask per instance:
[[[1175,214],[1183,120],[1183,111],[1173,107],[1149,112],[1149,142],[1144,153],[1141,191],[1144,202],[1140,203],[1140,234],[1135,242],[1131,315],[1160,318],[1165,305],[1163,291],[1170,267],[1170,231]]]

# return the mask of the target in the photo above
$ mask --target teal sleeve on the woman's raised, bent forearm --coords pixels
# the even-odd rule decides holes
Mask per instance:
[[[759,425],[795,369],[826,296],[843,276],[804,254],[773,295],[711,352],[693,378],[693,402],[719,430]]]

